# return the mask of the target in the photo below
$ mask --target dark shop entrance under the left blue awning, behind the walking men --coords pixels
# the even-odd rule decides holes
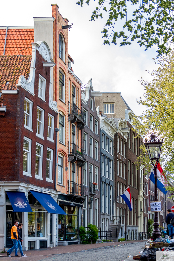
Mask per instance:
[[[6,206],[6,210],[13,210],[12,206]],[[14,226],[14,222],[19,221],[22,223],[22,213],[6,211],[6,222],[5,222],[5,247],[12,247],[13,241],[11,240],[11,228]]]

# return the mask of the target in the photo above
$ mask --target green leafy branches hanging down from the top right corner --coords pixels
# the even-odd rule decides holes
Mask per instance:
[[[86,0],[85,3],[89,5],[89,2]],[[82,7],[83,3],[84,0],[80,0],[76,4]],[[102,37],[106,38],[104,44],[117,44],[117,39],[120,39],[121,46],[130,45],[137,39],[145,50],[157,45],[159,55],[170,52],[170,41],[174,41],[174,0],[99,0],[91,21],[103,18],[103,11],[107,12],[101,31]],[[123,29],[117,32],[120,19]]]

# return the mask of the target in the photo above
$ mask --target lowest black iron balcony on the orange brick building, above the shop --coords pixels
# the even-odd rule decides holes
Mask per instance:
[[[74,181],[68,181],[67,197],[70,201],[83,203],[86,197],[86,186],[77,184]]]

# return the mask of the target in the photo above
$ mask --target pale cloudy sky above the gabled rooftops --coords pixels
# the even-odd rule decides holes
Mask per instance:
[[[73,23],[69,31],[69,54],[74,60],[74,73],[83,85],[92,78],[95,91],[121,92],[134,113],[140,115],[145,108],[136,103],[136,98],[143,95],[143,86],[139,80],[141,77],[152,80],[146,70],[157,68],[152,60],[157,55],[156,47],[144,51],[136,42],[122,47],[119,47],[119,42],[117,45],[103,45],[101,30],[106,14],[103,19],[89,22],[97,3],[91,0],[89,6],[85,4],[81,8],[75,2],[76,0],[1,1],[0,26],[34,25],[33,17],[51,17],[51,4],[57,3],[62,16],[67,17],[70,24]]]

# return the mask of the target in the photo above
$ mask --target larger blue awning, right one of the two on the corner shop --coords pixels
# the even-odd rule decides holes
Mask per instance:
[[[30,190],[39,203],[45,207],[50,214],[67,215],[65,211],[57,204],[50,194]]]

